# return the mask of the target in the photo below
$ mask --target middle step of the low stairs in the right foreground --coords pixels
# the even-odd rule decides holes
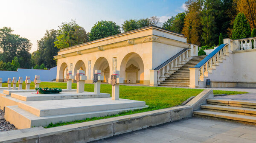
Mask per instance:
[[[221,106],[221,105],[205,104],[205,105],[201,105],[201,109],[207,110],[207,111],[256,116],[256,109],[243,108],[243,107],[232,107],[232,106]]]

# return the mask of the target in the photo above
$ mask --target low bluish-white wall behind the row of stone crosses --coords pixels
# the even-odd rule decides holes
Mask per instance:
[[[30,76],[31,81],[34,80],[35,75],[39,75],[41,81],[51,81],[56,79],[57,67],[52,67],[49,70],[36,70],[36,69],[22,69],[18,68],[17,71],[4,71],[0,70],[0,78],[3,78],[3,82],[7,81],[8,78],[16,77],[17,80],[19,76],[23,77],[25,81],[26,76]]]

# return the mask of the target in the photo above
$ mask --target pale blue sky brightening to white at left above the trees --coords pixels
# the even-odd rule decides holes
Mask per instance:
[[[0,0],[0,28],[30,40],[37,50],[46,30],[75,20],[86,32],[100,20],[117,25],[129,19],[157,16],[161,22],[185,10],[186,0]]]

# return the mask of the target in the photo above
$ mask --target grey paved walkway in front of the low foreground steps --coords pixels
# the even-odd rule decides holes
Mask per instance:
[[[193,117],[92,143],[256,143],[256,126]]]

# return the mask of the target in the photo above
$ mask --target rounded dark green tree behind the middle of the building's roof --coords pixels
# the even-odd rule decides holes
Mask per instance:
[[[93,41],[119,33],[121,33],[120,26],[116,25],[115,22],[102,20],[94,24],[90,31],[89,39]]]

